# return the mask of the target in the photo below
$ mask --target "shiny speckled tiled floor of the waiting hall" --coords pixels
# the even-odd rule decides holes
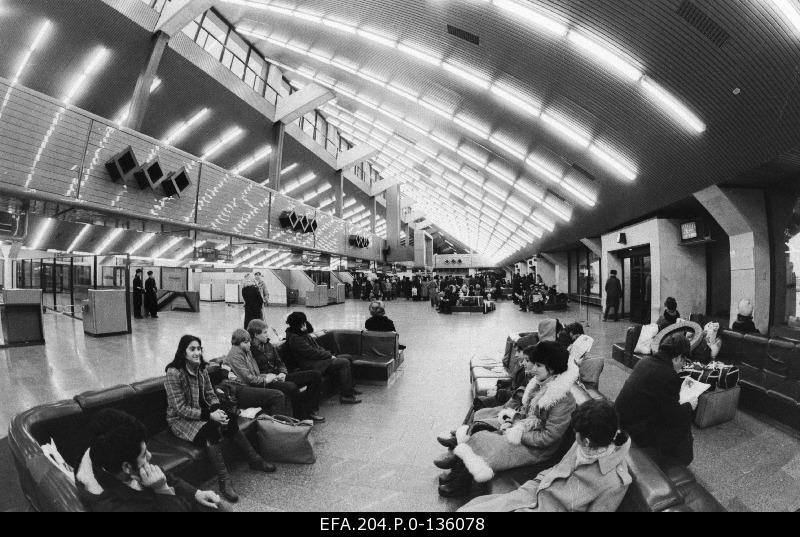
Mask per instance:
[[[360,328],[366,303],[305,309],[315,328]],[[315,426],[317,462],[279,466],[255,475],[238,468],[235,484],[242,510],[450,511],[462,501],[438,496],[439,474],[431,461],[442,452],[435,435],[464,418],[470,404],[468,362],[473,355],[496,356],[506,334],[535,330],[542,315],[501,303],[489,315],[438,315],[422,302],[387,304],[406,362],[389,386],[363,387],[360,405],[322,407],[327,423]],[[286,308],[267,310],[267,322],[283,332]],[[601,323],[589,313],[586,331],[593,354],[610,357],[611,344],[624,338],[625,323]],[[164,312],[158,320],[136,321],[134,334],[84,337],[79,321],[45,316],[47,345],[0,351],[0,427],[32,405],[70,398],[91,389],[163,374],[180,335],[203,338],[206,356],[224,354],[230,333],[243,318],[239,307],[202,305],[199,314]],[[572,306],[558,317],[586,321]],[[616,396],[627,372],[607,360],[601,390]],[[692,470],[728,508],[795,510],[800,507],[800,441],[740,412],[736,420],[695,431]],[[11,483],[0,483],[11,487]]]

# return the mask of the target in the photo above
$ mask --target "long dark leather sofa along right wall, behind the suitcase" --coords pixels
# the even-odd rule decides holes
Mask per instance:
[[[633,352],[641,330],[641,325],[628,328],[625,341],[614,344],[612,357],[631,368],[644,358]],[[735,364],[740,371],[740,408],[800,429],[800,344],[732,330],[720,330],[719,337],[722,350],[717,360]]]

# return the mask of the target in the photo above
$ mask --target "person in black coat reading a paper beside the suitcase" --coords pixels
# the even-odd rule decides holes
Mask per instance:
[[[679,402],[678,372],[689,352],[685,334],[666,336],[656,354],[636,364],[615,402],[622,427],[662,467],[688,465],[694,458],[690,425],[697,400]]]

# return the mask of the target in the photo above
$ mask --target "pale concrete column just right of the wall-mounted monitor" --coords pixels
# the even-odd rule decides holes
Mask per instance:
[[[754,306],[753,322],[756,328],[768,333],[772,260],[763,191],[723,189],[715,185],[694,196],[730,240],[730,322],[736,320],[739,301],[748,298]]]

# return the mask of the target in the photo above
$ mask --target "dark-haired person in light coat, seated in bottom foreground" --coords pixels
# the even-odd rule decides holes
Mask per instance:
[[[575,443],[556,466],[507,494],[479,496],[459,512],[611,512],[633,481],[631,440],[619,430],[614,406],[590,400],[572,413]]]

